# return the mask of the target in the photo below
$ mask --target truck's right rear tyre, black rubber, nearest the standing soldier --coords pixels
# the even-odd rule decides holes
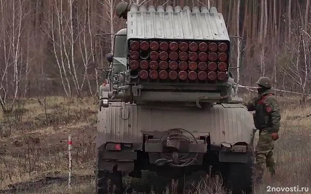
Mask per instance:
[[[232,194],[253,194],[254,157],[249,154],[247,163],[228,163],[228,168],[223,174],[225,188]]]

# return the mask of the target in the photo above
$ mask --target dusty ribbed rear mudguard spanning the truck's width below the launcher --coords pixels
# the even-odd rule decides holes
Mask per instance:
[[[104,151],[106,142],[133,144],[126,154],[133,161],[134,150],[143,150],[144,136],[175,128],[186,129],[197,139],[209,136],[210,149],[219,151],[220,162],[246,162],[244,153],[253,151],[253,117],[242,104],[198,109],[110,102],[98,113],[97,148]]]

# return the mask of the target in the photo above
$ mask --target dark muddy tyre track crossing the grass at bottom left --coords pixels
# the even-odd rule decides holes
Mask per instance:
[[[72,176],[73,184],[81,184],[86,182],[87,180],[91,180],[95,178],[94,175],[86,175],[86,176]],[[1,189],[0,194],[16,194],[17,192],[30,192],[37,191],[44,187],[62,184],[68,182],[68,176],[60,176],[60,177],[45,177],[41,179],[37,179],[34,181],[26,181],[19,182],[16,184],[8,185],[8,189]]]

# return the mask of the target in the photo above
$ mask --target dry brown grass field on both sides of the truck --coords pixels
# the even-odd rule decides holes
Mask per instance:
[[[286,95],[286,97],[284,97]],[[267,173],[267,187],[309,187],[311,193],[311,105],[284,94],[278,97],[281,129],[276,141],[276,178]],[[249,97],[245,97],[249,99]],[[18,100],[15,111],[0,115],[0,194],[94,194],[97,99],[46,97]],[[68,189],[68,135],[73,141],[73,186]],[[257,132],[258,135],[258,132]],[[126,185],[146,193],[157,193],[161,180],[150,173],[143,181],[126,179]],[[202,178],[189,186],[188,194],[222,194],[220,180]],[[147,185],[148,187],[146,187]],[[151,188],[154,186],[153,188]],[[174,191],[171,192],[173,194]]]

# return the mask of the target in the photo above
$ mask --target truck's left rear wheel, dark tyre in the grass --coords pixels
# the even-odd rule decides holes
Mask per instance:
[[[122,172],[98,170],[96,176],[96,194],[122,194]]]

